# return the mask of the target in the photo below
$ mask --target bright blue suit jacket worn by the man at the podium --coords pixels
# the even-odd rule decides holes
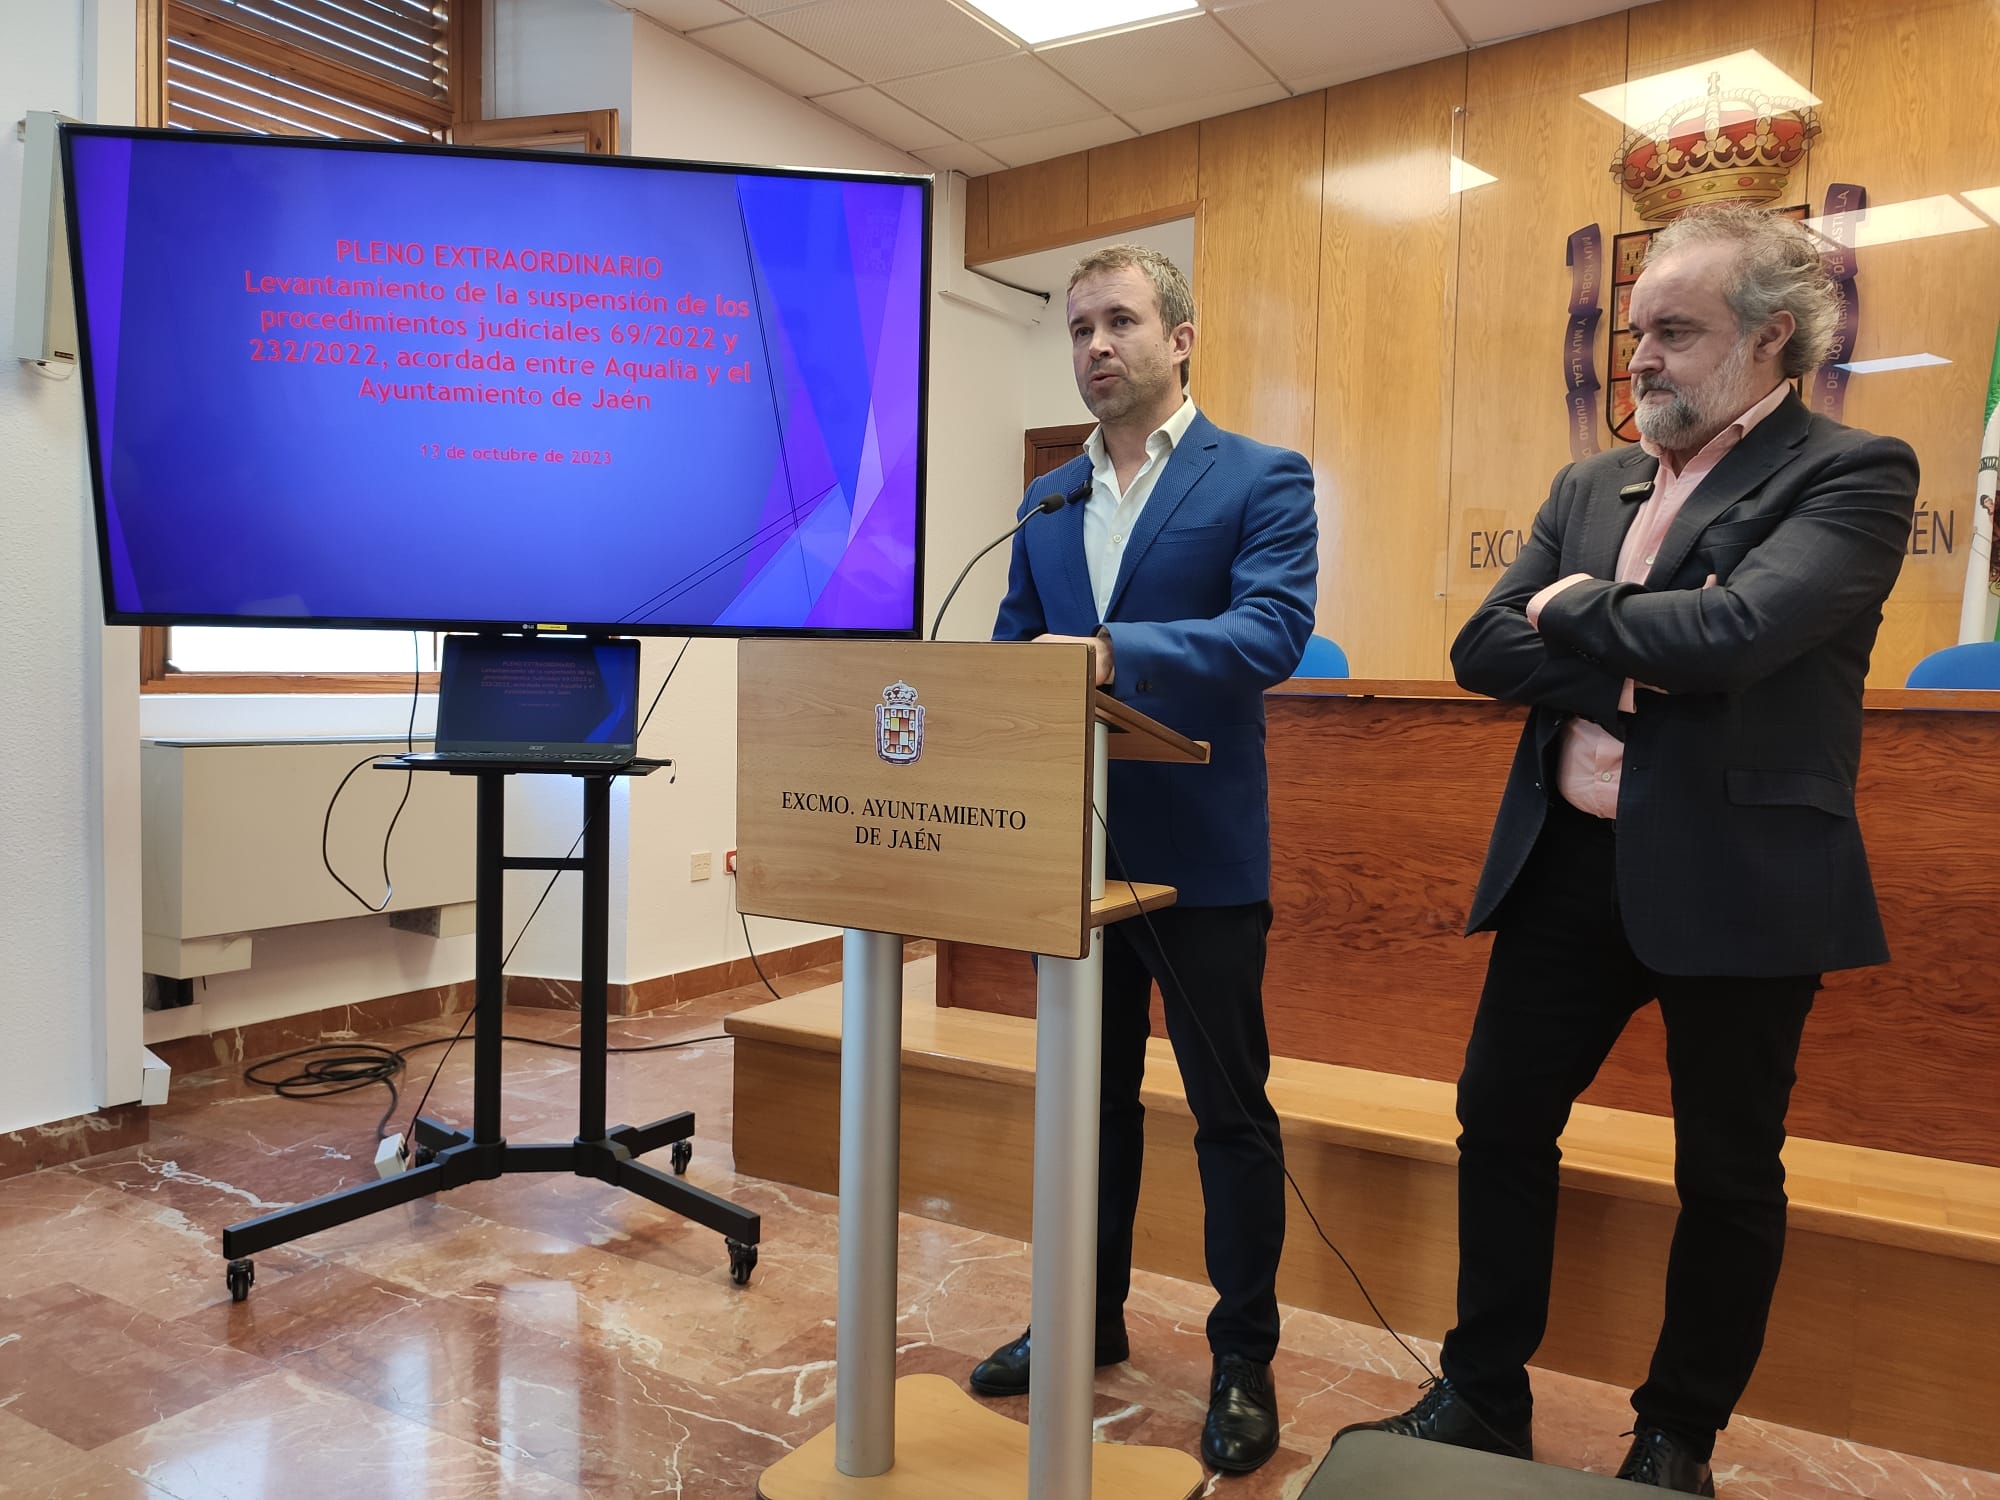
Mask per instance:
[[[1016,514],[1088,480],[1090,458],[1072,458]],[[1318,572],[1306,460],[1196,414],[1140,510],[1102,620],[1112,694],[1214,748],[1206,766],[1112,762],[1122,872],[1176,886],[1182,906],[1270,898],[1264,690],[1306,650]],[[1084,506],[1034,516],[1014,538],[994,640],[1090,636],[1098,624]]]

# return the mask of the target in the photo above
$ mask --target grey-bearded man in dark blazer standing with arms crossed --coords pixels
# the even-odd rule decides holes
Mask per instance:
[[[1642,446],[1556,476],[1452,646],[1460,684],[1532,712],[1468,922],[1498,936],[1458,1080],[1458,1326],[1424,1400],[1364,1426],[1528,1454],[1556,1138],[1658,1000],[1680,1218],[1620,1478],[1714,1494],[1784,1254],[1800,1032],[1826,970],[1888,960],[1854,776],[1916,456],[1786,384],[1836,316],[1798,224],[1662,230],[1632,292]]]

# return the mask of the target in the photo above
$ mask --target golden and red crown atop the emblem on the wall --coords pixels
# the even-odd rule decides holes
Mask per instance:
[[[1712,72],[1706,96],[1676,104],[1650,130],[1626,132],[1612,176],[1648,224],[1698,204],[1768,204],[1818,134],[1804,100],[1724,88]]]

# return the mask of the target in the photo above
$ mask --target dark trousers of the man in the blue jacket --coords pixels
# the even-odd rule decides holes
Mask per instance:
[[[1098,1108],[1098,1330],[1118,1328],[1132,1288],[1146,1110],[1138,1100],[1158,980],[1166,1034],[1194,1112],[1216,1354],[1278,1352],[1284,1168],[1278,1112],[1264,1094],[1264,936],[1270,902],[1170,906],[1104,934],[1104,1092]],[[1154,942],[1158,934],[1158,944]],[[1164,950],[1164,952],[1162,952]],[[1174,982],[1178,976],[1178,984]]]

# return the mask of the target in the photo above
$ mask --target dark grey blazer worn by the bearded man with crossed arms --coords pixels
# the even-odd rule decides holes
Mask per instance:
[[[1854,774],[1916,454],[1788,396],[1688,498],[1646,584],[1604,582],[1642,498],[1620,490],[1654,470],[1640,448],[1564,468],[1452,644],[1462,686],[1534,710],[1466,930],[1498,926],[1558,796],[1560,730],[1582,716],[1624,740],[1618,896],[1642,964],[1744,978],[1882,964]],[[1528,600],[1572,572],[1590,580],[1530,626]],[[1664,692],[1620,714],[1628,676]]]

